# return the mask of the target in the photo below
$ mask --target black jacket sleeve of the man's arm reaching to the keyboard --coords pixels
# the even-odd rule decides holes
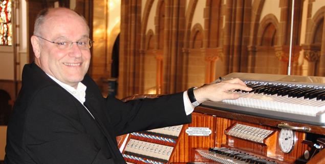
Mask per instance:
[[[183,93],[127,102],[107,97],[106,108],[117,135],[191,122],[191,115],[185,113]]]

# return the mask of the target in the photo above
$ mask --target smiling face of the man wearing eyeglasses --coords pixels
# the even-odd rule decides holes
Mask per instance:
[[[40,37],[52,42],[76,42],[89,38],[84,20],[69,9],[51,9],[40,28]],[[88,71],[90,49],[73,43],[71,48],[59,49],[57,44],[32,36],[35,63],[47,74],[74,88]]]

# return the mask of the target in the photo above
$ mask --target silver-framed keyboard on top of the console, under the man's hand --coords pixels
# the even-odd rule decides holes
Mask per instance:
[[[254,77],[258,77],[255,78]],[[325,124],[324,77],[304,77],[272,74],[231,73],[224,79],[242,79],[253,90],[232,91],[240,95],[236,100],[203,102],[203,106],[255,116]]]

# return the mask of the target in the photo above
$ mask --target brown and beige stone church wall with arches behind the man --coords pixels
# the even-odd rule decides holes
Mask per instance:
[[[179,92],[230,72],[287,73],[291,1],[147,0],[119,4],[113,0],[96,0],[89,4],[78,0],[70,1],[69,5],[91,21],[96,42],[90,74],[103,93],[106,86],[102,79],[111,76],[112,49],[119,34],[119,98],[146,93],[155,87],[160,90],[157,93]],[[28,1],[27,6],[30,35],[35,11],[44,8],[44,4]],[[324,75],[322,40],[325,37],[320,36],[324,9],[322,0],[295,3],[293,74]],[[270,24],[274,26],[273,31],[268,30]],[[196,37],[198,31],[200,36]],[[319,43],[314,42],[317,37]],[[269,47],[261,48],[266,43]],[[201,46],[200,52],[193,54],[191,49],[197,44]],[[29,54],[19,55],[23,63],[32,59],[31,49],[28,51]],[[14,64],[5,62],[8,59],[0,55],[3,56],[1,66],[9,70],[0,79],[13,80],[14,73],[10,70]],[[5,65],[8,63],[10,66]],[[22,65],[18,67],[17,79]],[[197,68],[195,74],[193,68]]]

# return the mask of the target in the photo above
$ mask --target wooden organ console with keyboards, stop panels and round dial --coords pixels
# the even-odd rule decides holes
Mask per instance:
[[[324,77],[231,73],[223,79],[235,77],[253,90],[231,91],[240,94],[236,100],[203,102],[190,124],[128,134],[119,142],[125,160],[325,163]]]

